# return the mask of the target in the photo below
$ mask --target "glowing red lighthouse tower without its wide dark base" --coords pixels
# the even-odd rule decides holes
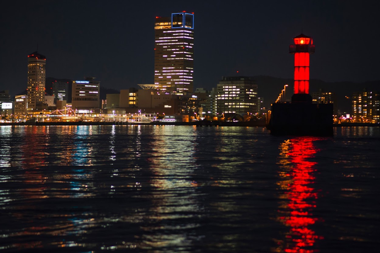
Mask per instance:
[[[293,38],[289,53],[294,54],[294,95],[292,102],[311,102],[309,95],[310,54],[314,53],[313,39],[301,33]]]

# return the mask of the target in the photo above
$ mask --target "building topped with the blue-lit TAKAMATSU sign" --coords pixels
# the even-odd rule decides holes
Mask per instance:
[[[100,82],[95,77],[85,77],[83,81],[73,81],[71,91],[71,108],[75,110],[90,110],[99,108]]]

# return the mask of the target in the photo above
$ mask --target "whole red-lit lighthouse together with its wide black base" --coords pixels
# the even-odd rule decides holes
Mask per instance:
[[[313,104],[309,94],[310,54],[313,40],[300,34],[293,38],[294,94],[291,103],[273,103],[267,128],[275,135],[331,136],[332,104]]]

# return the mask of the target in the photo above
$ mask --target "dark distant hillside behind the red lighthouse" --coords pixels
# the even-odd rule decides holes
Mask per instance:
[[[289,84],[289,87],[287,88],[287,98],[290,99],[291,95],[293,95],[293,79],[276,78],[271,76],[253,76],[252,79],[256,81],[258,85],[258,96],[264,98],[264,106],[267,108],[269,108],[271,103],[277,99],[277,96],[279,96],[285,84]],[[311,79],[310,92],[317,92],[320,89],[324,92],[336,93],[337,102],[339,104],[338,109],[342,112],[350,112],[351,100],[347,99],[345,96],[351,98],[352,93],[360,92],[363,89],[368,91],[378,91],[380,90],[380,80],[355,83],[325,82],[318,79]]]

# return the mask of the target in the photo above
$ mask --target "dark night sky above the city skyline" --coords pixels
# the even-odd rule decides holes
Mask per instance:
[[[312,36],[310,78],[379,78],[379,4],[369,1],[13,1],[2,6],[0,90],[27,86],[27,55],[46,55],[46,76],[94,76],[107,88],[153,83],[156,16],[195,14],[194,87],[222,76],[291,78],[292,38]],[[371,1],[374,2],[374,1]],[[239,71],[237,73],[236,71]]]

